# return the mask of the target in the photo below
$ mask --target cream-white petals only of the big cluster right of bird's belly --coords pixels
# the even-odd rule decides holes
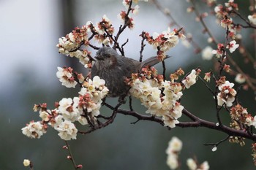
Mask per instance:
[[[162,96],[161,90],[164,88]],[[163,81],[156,83],[154,80],[135,79],[129,92],[132,96],[139,98],[141,104],[148,108],[146,113],[162,117],[164,124],[174,128],[178,124],[178,118],[182,115],[184,107],[178,103],[182,96],[182,87],[179,83]]]

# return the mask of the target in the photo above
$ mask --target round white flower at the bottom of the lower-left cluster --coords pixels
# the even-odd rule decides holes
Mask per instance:
[[[66,141],[76,139],[78,133],[78,129],[75,128],[75,125],[68,120],[64,120],[64,122],[60,123],[56,130],[59,131],[58,135],[61,137],[61,139]]]

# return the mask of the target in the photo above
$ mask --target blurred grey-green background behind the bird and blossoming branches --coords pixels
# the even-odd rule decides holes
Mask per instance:
[[[186,1],[160,0],[161,4],[170,9],[173,18],[191,33],[200,47],[207,46],[203,27],[195,21],[195,15],[187,14],[189,3]],[[223,2],[223,1],[217,1]],[[249,1],[238,1],[240,12],[249,15]],[[121,42],[129,37],[124,47],[130,58],[139,58],[141,31],[162,32],[167,29],[170,20],[162,15],[151,2],[140,2],[140,13],[135,16],[135,28],[125,31]],[[200,12],[208,11],[201,1],[197,1]],[[23,167],[23,159],[29,158],[34,169],[72,169],[67,160],[67,150],[52,128],[41,139],[29,139],[23,136],[21,128],[30,120],[39,120],[37,112],[33,112],[34,104],[48,103],[53,108],[54,101],[64,97],[77,96],[79,89],[67,89],[61,86],[56,77],[57,66],[72,66],[75,71],[86,74],[86,69],[75,60],[58,53],[56,44],[61,36],[65,36],[75,26],[83,26],[88,20],[97,23],[106,14],[118,29],[121,24],[116,15],[124,7],[116,0],[83,0],[83,1],[39,1],[39,0],[1,0],[0,31],[1,31],[1,89],[0,89],[0,170],[28,169]],[[214,16],[206,18],[211,31],[220,42],[225,40],[225,30],[215,23]],[[173,28],[173,27],[172,27]],[[244,45],[250,53],[255,53],[252,31],[241,32]],[[214,46],[212,46],[215,48]],[[95,53],[95,52],[94,52]],[[146,46],[144,56],[154,55],[155,51]],[[195,55],[192,47],[187,48],[180,42],[168,53],[173,58],[167,61],[167,74],[182,67],[186,72],[200,66],[203,72],[213,69],[211,61],[203,61],[200,54]],[[244,65],[238,53],[233,58],[241,64],[246,73],[254,72],[249,65]],[[157,66],[159,72],[161,66]],[[203,74],[202,74],[203,76]],[[228,77],[228,76],[227,76]],[[228,78],[234,82],[234,77]],[[238,85],[236,85],[238,88]],[[241,90],[239,93],[242,104],[255,115],[255,100],[252,91]],[[135,110],[143,113],[145,108],[133,101]],[[115,104],[116,99],[108,102]],[[214,100],[202,82],[184,91],[182,104],[189,111],[206,120],[216,121]],[[124,106],[123,108],[126,108]],[[108,115],[102,109],[102,114]],[[222,112],[222,119],[229,123],[229,115]],[[180,154],[181,169],[187,169],[187,158],[195,157],[202,163],[208,161],[210,169],[255,169],[251,156],[251,142],[246,141],[244,147],[225,142],[216,152],[203,144],[219,142],[225,134],[206,128],[173,128],[168,131],[157,123],[140,121],[135,125],[134,117],[117,115],[113,124],[85,136],[78,134],[78,139],[71,141],[76,162],[83,164],[83,169],[162,169],[167,170],[167,143],[172,136],[182,140],[184,147]],[[186,118],[181,117],[181,120]]]

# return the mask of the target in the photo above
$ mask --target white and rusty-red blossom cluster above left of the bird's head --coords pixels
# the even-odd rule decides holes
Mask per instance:
[[[89,50],[81,49],[81,46],[89,46],[90,39],[89,34],[99,44],[108,45],[113,40],[110,39],[110,35],[114,32],[111,21],[106,15],[103,15],[102,20],[94,26],[91,21],[86,23],[86,26],[81,28],[76,27],[72,32],[64,37],[59,38],[59,44],[56,47],[59,48],[59,53],[67,55],[69,57],[78,58],[86,68],[91,68],[91,52]]]

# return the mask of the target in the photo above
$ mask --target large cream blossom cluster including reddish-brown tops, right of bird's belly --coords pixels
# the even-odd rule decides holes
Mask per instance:
[[[131,86],[129,92],[148,108],[146,112],[162,117],[163,123],[170,128],[176,127],[179,123],[178,118],[184,109],[179,102],[184,86],[180,82],[175,82],[181,74],[184,72],[179,69],[176,74],[171,74],[171,80],[167,81],[162,75],[157,74],[156,69],[147,67],[143,68],[140,74],[132,74],[132,78],[127,81]],[[184,83],[188,87],[195,83],[194,72],[187,77],[189,78]]]

